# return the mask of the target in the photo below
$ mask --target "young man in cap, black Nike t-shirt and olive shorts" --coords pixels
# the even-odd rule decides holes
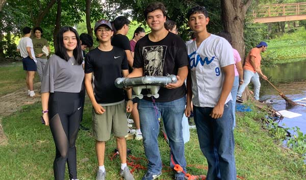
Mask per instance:
[[[96,153],[99,169],[96,179],[105,179],[104,167],[105,142],[110,139],[111,131],[117,141],[117,148],[121,162],[120,175],[125,180],[134,180],[129,168],[126,166],[127,134],[126,112],[131,112],[133,102],[131,90],[127,91],[129,100],[124,100],[122,89],[115,87],[115,79],[121,74],[129,74],[126,55],[123,49],[111,45],[113,35],[111,23],[101,19],[96,22],[94,32],[99,46],[91,50],[85,58],[85,86],[92,102],[93,136],[96,140]],[[91,80],[94,75],[94,89]]]

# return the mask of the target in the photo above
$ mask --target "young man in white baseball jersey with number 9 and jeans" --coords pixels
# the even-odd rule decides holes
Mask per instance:
[[[205,8],[193,7],[187,17],[196,39],[187,46],[190,73],[185,114],[190,116],[193,94],[193,114],[200,148],[208,161],[207,179],[234,180],[233,49],[224,38],[207,32],[209,17]]]

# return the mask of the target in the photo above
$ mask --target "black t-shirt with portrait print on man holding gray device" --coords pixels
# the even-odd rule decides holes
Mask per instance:
[[[134,54],[134,68],[143,68],[143,75],[167,76],[177,75],[180,67],[188,66],[188,54],[185,42],[179,36],[168,33],[168,35],[158,42],[149,40],[148,35],[137,41]],[[148,90],[142,90],[145,95]],[[176,89],[162,87],[159,90],[158,102],[168,102],[179,99],[186,95],[185,83]],[[151,97],[144,96],[146,100]]]

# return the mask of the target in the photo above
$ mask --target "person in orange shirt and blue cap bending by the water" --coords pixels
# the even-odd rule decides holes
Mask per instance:
[[[264,53],[267,50],[268,44],[261,41],[256,47],[252,48],[248,53],[244,66],[243,66],[243,84],[239,87],[237,92],[237,102],[243,102],[241,96],[245,87],[250,83],[254,85],[254,99],[259,100],[260,81],[259,76],[262,79],[267,80],[260,68],[261,56],[260,53]]]

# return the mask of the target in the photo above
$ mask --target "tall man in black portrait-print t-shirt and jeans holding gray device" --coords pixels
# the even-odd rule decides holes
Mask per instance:
[[[171,147],[170,167],[179,164],[186,172],[182,118],[186,104],[185,79],[188,74],[188,55],[185,42],[164,28],[166,9],[162,3],[152,3],[145,10],[145,18],[151,33],[141,38],[135,46],[133,72],[128,78],[144,75],[165,76],[175,74],[177,83],[159,90],[159,98],[144,96],[139,100],[138,111],[143,145],[148,159],[147,172],[142,180],[156,179],[162,172],[158,147],[161,116]],[[143,90],[145,94],[147,90]],[[183,180],[183,173],[175,174]]]

